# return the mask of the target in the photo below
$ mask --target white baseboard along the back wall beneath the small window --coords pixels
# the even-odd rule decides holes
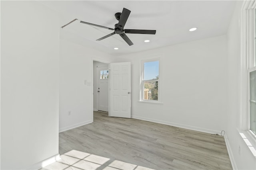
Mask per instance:
[[[205,128],[200,128],[200,127],[195,127],[195,126],[190,126],[190,125],[183,125],[183,124],[179,124],[179,123],[173,123],[173,122],[169,122],[169,121],[162,121],[162,120],[158,120],[158,119],[150,119],[147,117],[140,117],[140,116],[131,116],[134,119],[140,119],[140,120],[146,120],[146,121],[151,121],[151,122],[155,122],[155,123],[161,123],[164,125],[170,125],[170,126],[175,126],[175,127],[181,127],[184,129],[190,129],[190,130],[194,130],[194,131],[200,131],[200,132],[206,132],[206,133],[212,133],[212,134],[219,134],[219,131],[216,130],[211,130],[211,129],[205,129]]]

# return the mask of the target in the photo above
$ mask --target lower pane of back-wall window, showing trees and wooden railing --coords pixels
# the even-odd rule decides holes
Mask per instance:
[[[144,100],[158,100],[158,81],[144,82]]]

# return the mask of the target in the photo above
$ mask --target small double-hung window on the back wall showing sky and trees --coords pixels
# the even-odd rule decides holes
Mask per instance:
[[[141,101],[159,102],[159,59],[142,61]]]

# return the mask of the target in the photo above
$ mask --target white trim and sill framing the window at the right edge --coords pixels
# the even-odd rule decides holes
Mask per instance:
[[[239,98],[239,128],[238,133],[243,134],[242,139],[248,148],[256,156],[256,135],[250,131],[249,127],[249,72],[252,71],[254,56],[254,12],[255,0],[244,1],[241,10],[241,54],[240,54],[240,98]],[[248,37],[251,37],[250,39]],[[250,62],[249,62],[250,61]],[[249,65],[250,64],[250,65]],[[250,68],[250,69],[249,69]]]

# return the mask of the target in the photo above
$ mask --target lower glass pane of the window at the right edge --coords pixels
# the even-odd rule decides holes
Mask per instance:
[[[256,70],[250,72],[250,130],[256,134]]]

